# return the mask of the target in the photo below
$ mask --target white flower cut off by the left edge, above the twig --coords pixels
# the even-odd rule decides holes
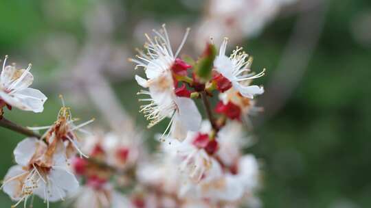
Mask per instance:
[[[43,112],[47,97],[40,90],[29,88],[34,81],[31,64],[26,69],[17,69],[5,66],[7,58],[5,56],[0,75],[0,108],[7,104],[25,111]]]

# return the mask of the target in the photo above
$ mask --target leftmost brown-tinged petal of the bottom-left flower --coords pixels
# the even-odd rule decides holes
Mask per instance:
[[[27,172],[22,169],[22,166],[12,166],[5,175],[3,191],[12,200],[20,200],[22,198],[22,185],[25,177],[27,177]],[[12,181],[7,181],[9,179],[12,179]]]

